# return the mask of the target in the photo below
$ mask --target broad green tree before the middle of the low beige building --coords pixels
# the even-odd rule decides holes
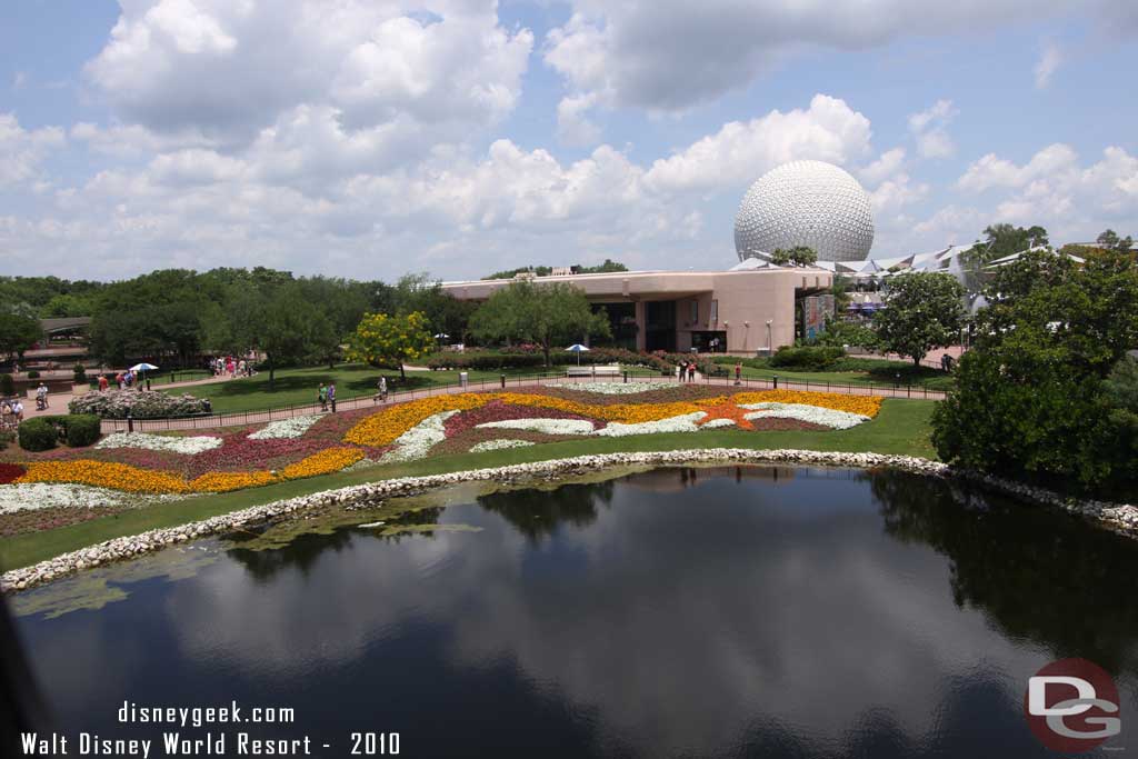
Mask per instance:
[[[554,345],[612,335],[608,314],[594,314],[582,290],[563,282],[525,280],[511,282],[487,298],[470,317],[470,328],[483,340],[539,345],[546,366],[552,363]]]

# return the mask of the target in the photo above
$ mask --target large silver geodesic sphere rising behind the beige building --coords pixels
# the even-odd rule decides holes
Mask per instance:
[[[792,160],[764,174],[735,215],[739,259],[808,246],[818,261],[861,261],[873,247],[869,196],[833,164]]]

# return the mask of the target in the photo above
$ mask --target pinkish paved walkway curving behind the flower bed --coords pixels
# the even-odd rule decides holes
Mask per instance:
[[[662,377],[629,377],[629,382],[638,381],[661,381],[666,378]],[[589,377],[583,378],[558,378],[558,379],[538,379],[538,378],[525,378],[520,377],[517,379],[506,378],[502,380],[483,380],[476,382],[469,382],[465,387],[460,385],[446,385],[428,387],[421,390],[406,390],[403,393],[393,393],[387,398],[387,404],[399,403],[403,401],[415,401],[418,398],[428,398],[436,395],[452,395],[456,393],[470,393],[480,390],[519,390],[527,387],[541,387],[551,381],[555,382],[591,382],[594,381]],[[669,380],[675,381],[675,380]],[[723,387],[725,391],[740,391],[740,390],[769,390],[774,388],[775,380],[766,379],[743,379],[742,383],[736,386],[735,381],[729,378],[698,378],[694,382],[695,385],[710,385],[716,387]],[[926,390],[920,387],[898,387],[891,388],[885,386],[859,386],[856,382],[838,383],[838,382],[817,382],[817,381],[786,381],[777,380],[778,389],[781,390],[813,390],[822,393],[840,393],[842,395],[877,395],[887,398],[922,398],[927,401],[940,401],[945,397],[945,394],[939,390]],[[34,402],[33,402],[34,405]],[[355,411],[357,409],[378,409],[381,404],[377,403],[374,396],[356,396],[352,398],[345,398],[336,404],[337,411]],[[245,427],[247,424],[261,424],[271,421],[278,421],[281,419],[291,419],[294,416],[304,416],[307,414],[319,414],[321,413],[319,404],[311,405],[297,405],[297,406],[284,406],[282,409],[272,409],[265,411],[244,411],[228,414],[214,414],[209,416],[191,416],[187,419],[137,419],[133,421],[133,429],[135,431],[157,431],[157,430],[192,430],[192,429],[216,429],[221,427]],[[116,432],[123,431],[129,428],[129,423],[125,419],[105,419],[102,421],[102,431]]]

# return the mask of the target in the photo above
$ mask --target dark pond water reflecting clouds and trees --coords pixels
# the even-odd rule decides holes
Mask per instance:
[[[99,609],[49,618],[91,577],[20,596],[63,732],[236,700],[294,708],[240,729],[324,757],[369,731],[405,757],[1056,756],[1023,693],[1082,657],[1119,685],[1106,746],[1138,752],[1138,543],[1072,518],[848,470],[447,497],[431,534],[234,536],[92,576]]]

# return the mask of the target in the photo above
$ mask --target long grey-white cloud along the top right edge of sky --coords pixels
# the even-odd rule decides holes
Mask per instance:
[[[682,110],[744,88],[808,49],[859,50],[907,36],[974,33],[1069,13],[1064,0],[570,0],[544,60],[575,93],[610,106]],[[1132,0],[1092,0],[1103,24],[1133,20]],[[1130,8],[1128,8],[1130,6]],[[1132,26],[1132,24],[1130,24]]]

